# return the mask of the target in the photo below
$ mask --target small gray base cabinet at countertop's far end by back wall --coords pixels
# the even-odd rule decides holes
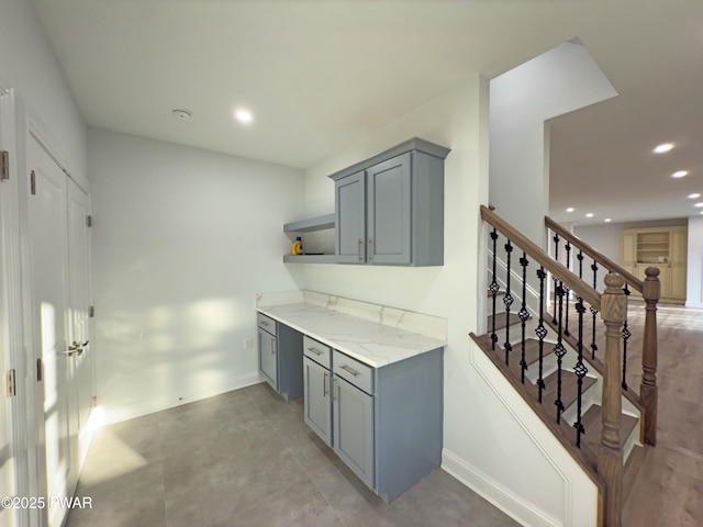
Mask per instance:
[[[261,313],[258,322],[259,372],[287,401],[303,395],[303,336]]]

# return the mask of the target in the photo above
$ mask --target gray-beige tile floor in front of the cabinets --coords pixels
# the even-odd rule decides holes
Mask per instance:
[[[436,470],[390,505],[266,384],[105,427],[67,527],[514,527]]]

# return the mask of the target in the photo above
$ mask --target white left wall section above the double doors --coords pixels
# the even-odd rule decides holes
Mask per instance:
[[[86,127],[29,0],[0,0],[0,75],[57,144],[71,173],[86,175]]]

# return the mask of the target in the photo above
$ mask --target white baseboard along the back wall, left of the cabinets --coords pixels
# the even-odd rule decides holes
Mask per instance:
[[[241,388],[250,386],[252,384],[258,384],[259,382],[261,382],[261,377],[258,371],[256,371],[244,377],[225,379],[223,382],[201,386],[197,390],[191,390],[190,392],[178,393],[177,395],[164,395],[148,401],[125,404],[124,406],[102,408],[99,416],[96,416],[93,426],[100,427],[132,419],[134,417],[141,417],[143,415],[153,414],[163,410],[174,408],[182,404],[220,395],[221,393],[231,392],[232,390],[239,390]],[[98,401],[98,405],[100,405],[100,401]],[[96,412],[93,411],[92,414],[96,414]]]

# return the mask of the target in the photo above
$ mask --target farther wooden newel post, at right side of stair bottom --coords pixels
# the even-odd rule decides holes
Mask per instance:
[[[641,384],[639,397],[645,406],[646,445],[657,444],[657,302],[661,294],[659,268],[645,269],[647,278],[641,282],[645,299],[645,335],[641,343]]]

